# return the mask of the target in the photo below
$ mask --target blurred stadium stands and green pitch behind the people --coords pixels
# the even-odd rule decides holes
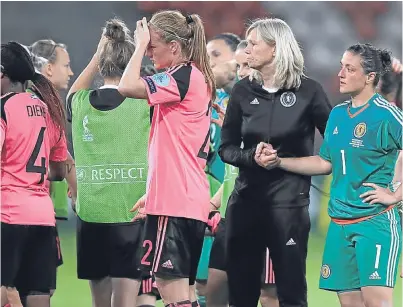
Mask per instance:
[[[338,94],[337,73],[344,50],[356,42],[388,48],[402,59],[402,2],[1,2],[1,42],[30,45],[50,38],[65,43],[75,76],[96,50],[100,29],[111,17],[122,18],[134,30],[141,17],[160,9],[180,9],[201,15],[207,38],[221,32],[244,36],[245,23],[257,17],[275,16],[292,27],[303,47],[306,73],[320,81],[333,104]],[[74,81],[74,80],[71,80]],[[62,93],[65,94],[65,93]],[[317,138],[316,149],[321,144]],[[71,142],[70,142],[71,148]],[[338,306],[336,295],[318,289],[321,253],[329,219],[326,215],[330,177],[313,178],[312,232],[308,254],[308,297],[311,307]],[[75,218],[59,222],[64,265],[59,268],[54,307],[91,306],[87,282],[76,278]],[[399,268],[399,271],[401,269]],[[162,306],[162,304],[160,305]],[[398,278],[395,306],[402,306]]]

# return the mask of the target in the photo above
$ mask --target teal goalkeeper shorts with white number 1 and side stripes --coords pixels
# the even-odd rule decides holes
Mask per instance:
[[[354,224],[331,221],[319,287],[351,291],[366,286],[393,288],[401,252],[397,208]]]

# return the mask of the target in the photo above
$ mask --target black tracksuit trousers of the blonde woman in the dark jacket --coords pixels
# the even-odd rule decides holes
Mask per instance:
[[[228,202],[226,223],[230,306],[257,306],[266,247],[272,257],[280,306],[308,306],[305,278],[311,227],[308,206],[272,206],[251,197],[246,199],[234,191]]]

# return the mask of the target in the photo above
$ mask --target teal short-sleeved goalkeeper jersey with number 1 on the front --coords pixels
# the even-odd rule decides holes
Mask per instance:
[[[364,203],[360,195],[372,189],[365,182],[381,187],[392,182],[402,149],[402,119],[402,111],[379,94],[362,107],[347,101],[332,110],[319,153],[332,163],[331,218],[357,219],[386,209]]]

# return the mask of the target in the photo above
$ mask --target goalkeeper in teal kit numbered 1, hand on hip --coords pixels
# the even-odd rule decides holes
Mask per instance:
[[[278,158],[259,144],[257,159],[302,175],[333,175],[320,288],[338,294],[341,306],[393,306],[401,252],[401,224],[392,191],[402,149],[401,109],[376,92],[391,69],[388,51],[356,44],[341,59],[340,92],[318,156]],[[270,161],[270,162],[269,162]]]

